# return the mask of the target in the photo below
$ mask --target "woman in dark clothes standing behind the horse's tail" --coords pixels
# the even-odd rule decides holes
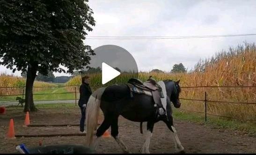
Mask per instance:
[[[82,84],[80,85],[80,98],[78,101],[78,105],[81,109],[81,119],[80,119],[80,131],[85,133],[84,131],[84,123],[85,123],[85,108],[88,102],[90,95],[92,94],[91,88],[89,86],[90,77],[85,75],[82,77]]]

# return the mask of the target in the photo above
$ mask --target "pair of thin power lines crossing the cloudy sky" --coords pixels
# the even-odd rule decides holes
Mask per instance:
[[[192,35],[192,36],[88,36],[86,39],[94,40],[146,40],[146,39],[193,39],[253,36],[256,34],[228,34],[228,35]]]

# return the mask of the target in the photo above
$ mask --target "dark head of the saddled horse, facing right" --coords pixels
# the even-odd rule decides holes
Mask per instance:
[[[181,92],[181,88],[179,86],[180,80],[178,81],[165,80],[164,82],[166,87],[166,93],[170,101],[173,103],[175,108],[180,108],[181,106],[181,102],[179,99],[179,95]]]

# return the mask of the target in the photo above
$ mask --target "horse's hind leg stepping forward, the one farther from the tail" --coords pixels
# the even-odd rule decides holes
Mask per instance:
[[[122,148],[124,153],[132,153],[124,145],[124,142],[118,137],[118,115],[113,118],[113,121],[112,121],[112,124],[111,124],[111,135],[117,141],[118,145]]]

